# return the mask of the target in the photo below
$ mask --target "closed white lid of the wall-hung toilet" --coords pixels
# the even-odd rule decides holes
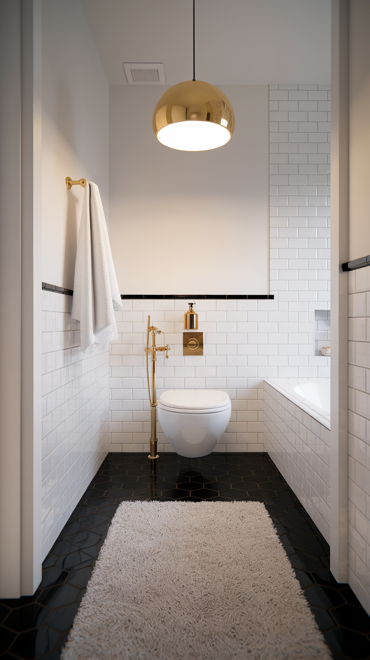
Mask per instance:
[[[184,410],[224,408],[229,402],[229,395],[219,389],[170,389],[160,395],[166,407]]]

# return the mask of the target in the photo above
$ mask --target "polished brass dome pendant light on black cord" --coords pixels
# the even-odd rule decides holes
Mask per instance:
[[[206,151],[226,145],[235,117],[228,98],[209,82],[195,80],[195,0],[193,0],[193,80],[164,92],[153,115],[157,140],[180,151]]]

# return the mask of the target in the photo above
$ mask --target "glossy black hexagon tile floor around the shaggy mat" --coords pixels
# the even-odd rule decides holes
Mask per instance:
[[[266,453],[108,454],[43,564],[33,597],[0,601],[0,660],[58,660],[124,500],[264,502],[333,660],[370,660],[370,617],[330,574],[329,547]]]

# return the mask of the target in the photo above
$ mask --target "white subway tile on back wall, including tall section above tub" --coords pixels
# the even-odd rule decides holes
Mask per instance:
[[[158,394],[187,387],[229,393],[231,420],[217,451],[263,451],[264,378],[330,376],[328,358],[315,358],[313,345],[314,311],[330,307],[329,86],[271,85],[270,115],[270,292],[275,298],[199,300],[203,357],[182,354],[187,301],[123,300],[125,308],[116,315],[119,337],[109,357],[109,451],[149,449],[148,313],[172,349],[165,363],[158,356]],[[171,451],[159,425],[158,451]]]

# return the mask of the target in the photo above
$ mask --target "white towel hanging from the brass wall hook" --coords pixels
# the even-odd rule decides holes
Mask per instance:
[[[121,309],[99,188],[86,181],[71,314],[80,321],[83,353],[108,350],[109,341],[118,338],[114,311]]]

